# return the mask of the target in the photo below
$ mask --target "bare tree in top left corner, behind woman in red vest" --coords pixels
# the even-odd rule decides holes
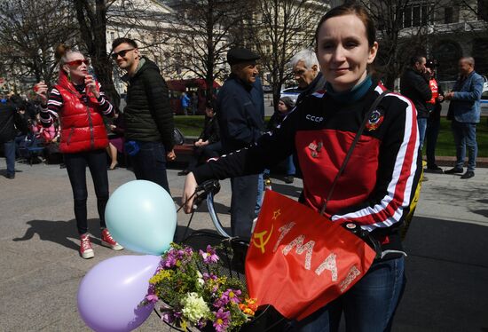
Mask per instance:
[[[76,35],[68,5],[65,0],[0,2],[0,74],[52,82],[53,48]]]

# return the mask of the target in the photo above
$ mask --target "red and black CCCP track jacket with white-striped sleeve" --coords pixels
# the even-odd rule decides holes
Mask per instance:
[[[303,171],[303,202],[319,211],[368,108],[385,88],[372,85],[353,103],[316,92],[256,145],[194,170],[197,182],[257,173],[296,152]],[[350,161],[327,203],[326,217],[354,221],[374,232],[383,252],[401,250],[397,227],[408,214],[421,173],[416,111],[388,93],[366,123]]]

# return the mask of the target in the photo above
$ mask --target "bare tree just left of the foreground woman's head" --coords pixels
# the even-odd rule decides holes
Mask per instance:
[[[261,55],[264,77],[271,83],[273,105],[279,91],[291,78],[287,63],[297,51],[311,47],[320,17],[327,6],[310,0],[258,0],[248,25],[248,40]]]

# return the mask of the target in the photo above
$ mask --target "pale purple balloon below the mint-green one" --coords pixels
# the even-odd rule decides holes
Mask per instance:
[[[138,304],[160,260],[152,255],[119,256],[91,268],[78,289],[78,312],[86,325],[99,332],[138,328],[153,310],[153,304]]]

